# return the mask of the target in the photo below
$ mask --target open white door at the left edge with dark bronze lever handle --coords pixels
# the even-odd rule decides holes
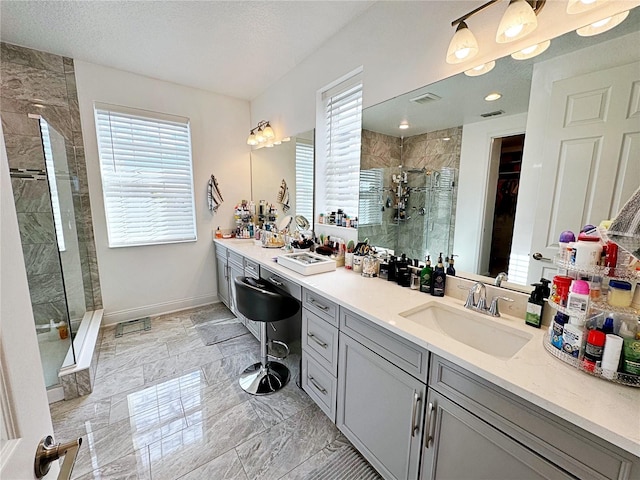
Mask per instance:
[[[35,478],[36,448],[53,426],[1,126],[0,157],[0,478],[25,480]],[[45,478],[58,470],[52,464]]]

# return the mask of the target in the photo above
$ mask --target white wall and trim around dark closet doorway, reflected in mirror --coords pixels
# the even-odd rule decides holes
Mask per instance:
[[[453,251],[459,272],[481,271],[483,253],[491,244],[491,231],[486,231],[487,201],[495,203],[495,181],[489,181],[491,146],[494,138],[524,133],[527,114],[496,117],[462,127],[458,203]],[[527,139],[525,139],[525,142]],[[490,193],[490,186],[494,191]],[[491,215],[493,220],[493,215]],[[481,238],[487,235],[487,241]],[[488,256],[487,256],[488,258]]]

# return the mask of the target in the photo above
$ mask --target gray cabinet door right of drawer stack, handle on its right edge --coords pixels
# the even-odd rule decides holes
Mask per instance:
[[[340,333],[336,425],[387,479],[417,479],[426,385]]]

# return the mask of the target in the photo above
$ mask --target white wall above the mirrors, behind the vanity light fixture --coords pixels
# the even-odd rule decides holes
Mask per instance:
[[[279,136],[315,126],[316,92],[337,78],[364,67],[363,106],[428,85],[475,65],[579,26],[639,5],[638,0],[612,1],[580,15],[566,13],[566,1],[546,2],[539,27],[518,42],[497,44],[495,31],[507,2],[499,2],[467,24],[480,53],[471,64],[448,65],[444,57],[455,29],[451,22],[484,1],[429,0],[378,2],[356,18],[291,72],[251,102],[251,118],[269,119]]]

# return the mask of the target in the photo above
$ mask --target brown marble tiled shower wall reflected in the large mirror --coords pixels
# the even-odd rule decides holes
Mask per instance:
[[[440,171],[451,168],[457,175],[461,145],[462,127],[404,139],[363,130],[360,168],[384,168],[385,187],[394,186],[391,178],[393,174],[400,172],[400,165],[405,170],[425,168]],[[409,173],[408,182],[410,187],[426,188],[431,186],[432,179],[424,174]],[[382,196],[383,203],[387,193],[393,200],[391,192],[385,192]],[[411,217],[409,220],[398,224],[393,220],[394,209],[386,208],[382,225],[360,226],[358,236],[369,238],[374,245],[405,252],[411,258],[421,258],[425,251],[432,255],[443,251],[447,255],[453,248],[457,189],[454,187],[449,195],[451,206],[449,199],[443,205],[443,195],[440,193],[433,195],[429,191],[412,192],[407,205],[407,217]],[[429,208],[429,205],[432,207],[431,223],[427,222],[429,212],[424,216],[418,213],[420,207]]]

